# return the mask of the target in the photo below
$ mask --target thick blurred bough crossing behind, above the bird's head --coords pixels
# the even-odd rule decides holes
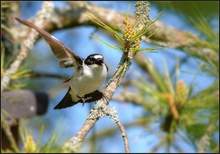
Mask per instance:
[[[125,19],[124,13],[91,5],[84,1],[70,1],[69,4],[70,7],[66,9],[56,9],[56,13],[53,15],[53,17],[50,20],[45,21],[46,31],[53,32],[59,29],[73,28],[82,25],[97,27],[97,25],[89,22],[87,18],[85,18],[87,13],[94,14],[107,25],[115,24],[120,28],[124,28],[124,25],[122,24],[122,21]],[[131,24],[135,23],[134,16],[130,16],[129,19]],[[160,21],[156,21],[153,26],[155,29],[160,29],[160,31],[148,39],[143,36],[142,39],[144,41],[167,48],[183,50],[198,58],[208,57],[208,59],[211,59],[215,62],[219,61],[217,51],[207,47],[205,43],[202,43],[203,40],[200,37],[192,33],[183,32],[167,26]],[[149,36],[149,34],[152,34],[152,31],[147,32],[146,36]],[[21,39],[20,36],[17,37]]]

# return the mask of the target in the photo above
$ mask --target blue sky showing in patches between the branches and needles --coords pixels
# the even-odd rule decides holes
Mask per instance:
[[[123,13],[127,12],[128,4],[131,4],[130,12],[133,13],[135,10],[135,7],[132,5],[133,2],[115,3],[115,2],[100,1],[100,2],[91,2],[91,3],[101,5],[103,7],[112,10],[120,10]],[[19,15],[19,18],[28,20],[29,18],[34,17],[36,12],[41,8],[41,4],[42,2],[22,2],[21,13]],[[66,3],[56,1],[54,2],[54,4],[56,7],[63,7],[63,5],[65,5]],[[154,6],[152,6],[150,12],[150,18],[154,17],[158,13],[159,10]],[[182,20],[181,17],[176,16],[175,14],[170,13],[168,11],[164,11],[164,14],[165,16],[161,18],[160,21],[165,23],[166,25],[173,26],[183,31],[188,31],[188,32],[192,31],[196,33],[196,30],[188,26]],[[109,66],[109,75],[112,75],[119,63],[121,52],[117,50],[109,49],[109,47],[107,47],[106,45],[104,45],[103,43],[97,40],[94,39],[92,40],[90,38],[90,35],[94,31],[95,29],[93,27],[82,26],[68,30],[60,30],[52,33],[52,35],[58,38],[61,42],[64,42],[65,45],[67,45],[69,48],[71,48],[73,51],[75,51],[83,58],[86,58],[89,54],[92,53],[103,54],[105,57],[105,62]],[[103,33],[98,32],[96,33],[96,35],[98,35],[105,41],[109,42],[110,44],[114,44],[114,41],[109,39],[109,37],[104,35]],[[150,45],[143,44],[141,46],[149,47]],[[173,54],[174,52],[175,54],[172,55],[173,56],[172,57],[171,54]],[[172,70],[173,66],[175,66],[176,63],[175,56],[177,55],[180,58],[186,56],[185,53],[176,49],[163,49],[157,51],[157,54],[143,53],[143,55],[150,58],[156,64],[156,67],[161,71],[163,71],[164,69],[164,66],[161,65],[162,60],[165,60],[168,68]],[[31,63],[32,59],[30,58],[29,60],[30,67],[33,67],[35,71],[42,71],[45,73],[58,73],[58,74],[60,73],[66,76],[71,76],[72,73],[74,72],[74,69],[72,68],[63,69],[58,67],[57,60],[55,59],[55,57],[53,57],[49,46],[45,43],[43,39],[40,39],[35,44],[35,47],[33,48],[33,51],[30,54],[30,57],[32,58],[34,57],[34,59],[38,61],[38,63]],[[193,70],[191,71],[195,72],[196,69],[198,69],[198,65],[196,61],[190,58],[189,63],[193,68]],[[130,71],[132,72],[134,70],[138,70],[136,67],[137,65],[133,64],[131,66]],[[180,79],[184,80],[187,83],[187,85],[189,85],[194,78],[194,75],[184,72],[188,70],[189,70],[189,66],[183,65],[181,67],[181,72],[180,72]],[[139,73],[141,72],[139,71]],[[46,124],[47,128],[45,129],[45,133],[47,135],[43,137],[43,142],[45,143],[47,142],[50,134],[53,133],[53,130],[55,129],[57,124],[65,126],[65,132],[63,132],[62,137],[74,136],[83,125],[84,121],[87,118],[89,110],[92,106],[94,106],[94,103],[86,104],[84,106],[78,104],[74,107],[67,108],[65,110],[53,110],[54,106],[63,98],[63,96],[67,92],[67,88],[64,87],[62,85],[62,81],[58,79],[50,79],[49,82],[48,79],[42,80],[42,82],[43,81],[47,82],[47,84],[38,85],[36,89],[40,90],[43,87],[46,92],[53,93],[50,97],[50,106],[48,108],[48,112],[43,116],[34,117],[31,120],[30,119],[23,120],[22,123],[27,124],[31,128],[36,138],[39,136],[39,128],[41,127],[41,125]],[[207,86],[213,83],[213,81],[214,81],[213,78],[207,76],[198,76],[195,81],[195,84],[198,87],[195,88],[194,92],[196,93],[199,90],[205,89]],[[37,81],[34,79],[33,82],[37,82]],[[103,85],[103,87],[105,85],[106,83]],[[60,90],[60,87],[62,88],[62,90]],[[116,91],[115,95],[117,95],[117,92],[118,91]],[[142,112],[144,112],[141,107],[134,106],[130,103],[118,103],[111,101],[110,106],[116,108],[122,123],[132,122],[137,117],[141,116]],[[104,130],[105,128],[110,128],[110,127],[116,127],[116,124],[112,122],[112,120],[110,120],[109,117],[105,117],[97,122],[94,130],[96,132],[99,132],[101,130]],[[156,123],[155,125],[152,125],[152,128],[158,129],[158,124]],[[91,132],[88,134],[87,137],[91,135]],[[131,152],[149,152],[152,146],[155,145],[154,142],[155,143],[159,142],[158,136],[156,136],[155,134],[147,133],[143,127],[128,128],[127,135],[129,139],[129,144],[135,145],[135,146],[130,146]],[[111,141],[111,144],[109,144],[109,141]],[[186,152],[195,152],[194,148],[192,148],[185,142],[181,141],[181,139],[178,139],[178,141],[181,144],[183,144],[185,149],[187,149]],[[123,140],[119,132],[109,138],[103,139],[102,142],[97,143],[97,145],[98,145],[97,150],[99,150],[99,152],[124,152]],[[82,146],[81,152],[87,152],[88,150],[89,148],[87,144],[85,144]],[[159,152],[163,152],[164,150],[165,147],[161,148]],[[176,152],[174,149],[172,150],[171,150],[172,152]]]

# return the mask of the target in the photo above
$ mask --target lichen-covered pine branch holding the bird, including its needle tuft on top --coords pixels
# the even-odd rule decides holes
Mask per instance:
[[[146,3],[147,2],[142,2],[140,4],[139,2],[137,2],[136,4],[137,5],[140,4],[140,5],[144,6]],[[148,9],[148,7],[149,7],[149,5],[146,8]],[[140,11],[140,7],[139,8],[137,7],[137,12],[140,12],[140,14],[146,13],[145,11],[147,11],[147,10],[141,10],[141,11]],[[124,126],[119,121],[117,111],[113,108],[109,108],[107,105],[108,105],[108,101],[111,100],[115,90],[120,85],[125,73],[129,70],[129,68],[132,64],[133,56],[136,53],[132,50],[132,48],[139,48],[140,47],[140,45],[137,44],[137,42],[135,42],[136,39],[139,39],[139,38],[137,38],[137,35],[141,36],[141,35],[145,34],[145,32],[148,31],[148,28],[149,28],[148,26],[152,23],[152,21],[149,20],[148,16],[145,18],[142,17],[141,20],[145,21],[145,22],[144,23],[139,22],[140,26],[137,26],[137,28],[132,29],[132,26],[129,23],[128,15],[127,15],[126,20],[123,22],[126,25],[126,28],[124,30],[123,35],[121,36],[120,34],[117,34],[117,32],[115,30],[113,30],[111,27],[109,27],[109,26],[105,25],[103,22],[99,21],[95,16],[89,15],[88,18],[91,21],[94,21],[96,24],[100,25],[101,27],[105,28],[106,30],[113,32],[114,35],[119,39],[118,40],[119,42],[120,41],[124,42],[124,44],[123,44],[124,46],[122,47],[123,55],[121,57],[120,63],[118,65],[114,75],[111,77],[106,88],[104,89],[103,95],[105,97],[97,102],[95,107],[90,111],[90,114],[88,115],[88,118],[87,118],[86,122],[84,123],[84,125],[82,126],[82,128],[80,129],[80,131],[76,134],[76,136],[71,138],[71,140],[66,144],[66,146],[72,147],[73,150],[76,151],[80,147],[80,144],[84,141],[88,132],[95,125],[97,120],[99,118],[102,118],[102,117],[108,115],[118,125],[119,130],[121,131],[121,134],[122,134],[122,138],[124,140],[125,152],[129,153],[130,150],[129,150],[129,145],[128,145],[128,139],[127,139],[127,135],[126,135],[126,131],[124,129]]]

